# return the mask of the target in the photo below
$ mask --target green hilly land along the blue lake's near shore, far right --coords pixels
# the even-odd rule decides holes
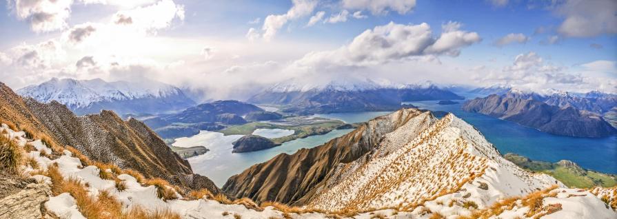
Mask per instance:
[[[531,160],[525,156],[512,153],[505,154],[504,158],[523,169],[553,176],[567,187],[591,188],[596,186],[614,187],[617,185],[617,175],[583,169],[570,160],[549,163]]]

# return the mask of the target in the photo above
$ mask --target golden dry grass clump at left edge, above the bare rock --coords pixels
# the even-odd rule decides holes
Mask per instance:
[[[23,154],[14,140],[0,134],[0,170],[17,173]]]

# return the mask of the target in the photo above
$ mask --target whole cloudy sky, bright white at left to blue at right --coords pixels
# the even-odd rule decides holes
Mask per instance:
[[[6,0],[0,81],[156,80],[203,98],[366,80],[617,92],[614,0]]]

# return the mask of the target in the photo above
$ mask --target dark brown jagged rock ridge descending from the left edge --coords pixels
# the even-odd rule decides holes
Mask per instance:
[[[144,176],[164,178],[191,189],[202,188],[191,187],[194,185],[212,185],[206,188],[216,194],[220,191],[210,179],[192,176],[189,163],[172,152],[146,125],[134,119],[123,121],[111,111],[75,116],[56,101],[45,104],[21,98],[0,83],[0,121],[50,136],[57,144],[75,147],[91,160],[135,169]],[[204,182],[195,183],[187,178]]]

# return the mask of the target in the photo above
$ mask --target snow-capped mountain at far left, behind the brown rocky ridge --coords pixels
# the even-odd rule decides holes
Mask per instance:
[[[159,114],[194,105],[178,87],[157,81],[132,83],[102,79],[57,79],[17,90],[43,103],[58,101],[76,114],[114,110],[119,114]]]

